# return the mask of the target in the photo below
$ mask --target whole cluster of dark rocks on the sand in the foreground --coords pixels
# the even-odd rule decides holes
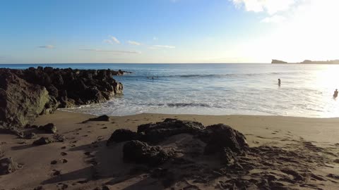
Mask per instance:
[[[215,155],[220,163],[230,164],[237,155],[249,149],[244,135],[230,126],[218,124],[204,127],[200,122],[177,119],[139,125],[138,132],[117,129],[107,145],[121,141],[128,141],[123,150],[125,161],[153,166],[165,163],[177,151],[182,154],[181,159],[185,156]],[[165,146],[168,141],[172,145],[175,141],[175,147]]]

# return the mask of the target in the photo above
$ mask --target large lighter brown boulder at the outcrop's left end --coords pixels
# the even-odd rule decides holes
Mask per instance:
[[[10,70],[0,69],[0,120],[11,126],[24,126],[44,110],[48,91],[30,84]]]

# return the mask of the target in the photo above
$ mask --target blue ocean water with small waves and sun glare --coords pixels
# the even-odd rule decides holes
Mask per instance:
[[[339,65],[78,63],[0,67],[37,65],[133,72],[114,76],[124,84],[124,94],[105,103],[66,109],[74,112],[339,117],[339,100],[333,99],[333,91],[339,88]]]

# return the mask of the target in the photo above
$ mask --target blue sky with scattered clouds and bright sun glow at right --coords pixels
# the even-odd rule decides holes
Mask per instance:
[[[339,58],[338,0],[3,0],[0,63]]]

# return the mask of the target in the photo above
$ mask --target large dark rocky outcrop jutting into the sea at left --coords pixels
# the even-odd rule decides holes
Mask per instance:
[[[122,93],[122,84],[112,76],[123,74],[122,70],[1,68],[0,125],[22,127],[57,108],[107,101]]]

